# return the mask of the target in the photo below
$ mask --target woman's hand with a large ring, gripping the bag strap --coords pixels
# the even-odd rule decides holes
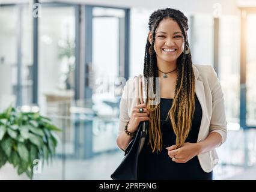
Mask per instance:
[[[139,109],[142,108],[143,112],[139,112]],[[130,117],[130,121],[127,127],[127,130],[130,133],[135,132],[138,129],[139,123],[141,121],[148,121],[149,120],[149,116],[150,112],[148,112],[148,110],[146,109],[146,104],[139,104],[137,106],[133,107],[132,110],[132,116]]]

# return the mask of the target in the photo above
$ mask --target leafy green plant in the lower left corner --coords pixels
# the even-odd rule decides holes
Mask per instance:
[[[26,173],[32,179],[35,162],[48,163],[55,154],[58,137],[54,131],[61,130],[39,112],[8,107],[0,113],[0,168],[13,164],[18,175]]]

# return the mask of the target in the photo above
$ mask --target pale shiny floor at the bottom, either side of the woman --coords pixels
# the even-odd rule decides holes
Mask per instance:
[[[51,166],[44,167],[43,172],[36,174],[34,179],[111,179],[110,175],[120,163],[122,152],[102,154],[91,160],[68,160],[64,166],[60,160],[54,161]],[[248,169],[236,166],[215,167],[213,179],[256,179],[256,166]]]

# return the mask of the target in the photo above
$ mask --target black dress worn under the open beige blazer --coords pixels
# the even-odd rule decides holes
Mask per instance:
[[[144,148],[139,154],[138,161],[138,179],[212,179],[212,172],[206,173],[201,168],[198,157],[195,156],[187,163],[175,163],[168,156],[166,147],[175,145],[175,134],[171,127],[171,122],[164,121],[172,105],[171,98],[161,98],[160,100],[160,118],[163,146],[162,151],[152,152],[148,145],[148,137]],[[195,95],[195,113],[192,120],[192,127],[186,142],[196,143],[202,118],[202,109]]]

